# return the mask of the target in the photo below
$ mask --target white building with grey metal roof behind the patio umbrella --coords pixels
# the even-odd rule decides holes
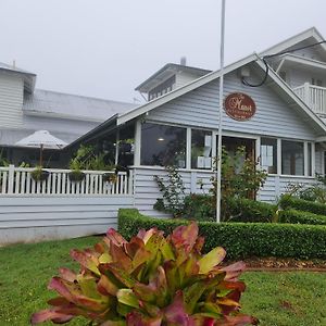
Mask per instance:
[[[70,143],[111,115],[135,104],[36,89],[37,76],[15,65],[0,63],[0,153],[15,165],[35,165],[37,150],[14,145],[36,130],[47,129]],[[62,165],[64,154],[46,151],[51,166]]]

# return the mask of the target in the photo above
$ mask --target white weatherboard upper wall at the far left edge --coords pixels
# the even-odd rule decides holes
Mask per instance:
[[[0,74],[0,127],[18,128],[23,125],[23,79]]]

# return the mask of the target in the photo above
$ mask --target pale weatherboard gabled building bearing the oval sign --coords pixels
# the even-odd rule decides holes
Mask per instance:
[[[249,98],[255,112],[235,116],[224,111],[223,143],[230,151],[246,146],[247,155],[268,172],[260,200],[275,201],[288,184],[314,183],[316,173],[324,173],[325,68],[326,43],[315,28],[225,67],[224,99]],[[176,85],[185,73],[187,83]],[[164,165],[179,167],[188,192],[202,191],[198,180],[204,189],[210,187],[218,131],[218,71],[167,64],[137,87],[149,102],[112,116],[74,145],[111,143],[116,163],[133,171],[135,206],[158,214],[152,206],[161,195],[153,175],[163,175]],[[242,98],[235,99],[239,95]],[[246,99],[240,109],[248,109]],[[126,147],[126,140],[133,146]],[[114,148],[115,143],[123,146]]]

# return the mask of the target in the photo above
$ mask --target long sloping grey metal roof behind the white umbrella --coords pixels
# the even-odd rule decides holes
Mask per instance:
[[[35,89],[34,93],[25,95],[23,110],[29,115],[103,122],[136,106],[133,103]]]

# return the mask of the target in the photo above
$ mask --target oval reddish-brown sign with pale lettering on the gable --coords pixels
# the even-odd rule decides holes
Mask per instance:
[[[247,121],[255,113],[255,103],[243,92],[233,92],[224,101],[226,114],[237,121]]]

